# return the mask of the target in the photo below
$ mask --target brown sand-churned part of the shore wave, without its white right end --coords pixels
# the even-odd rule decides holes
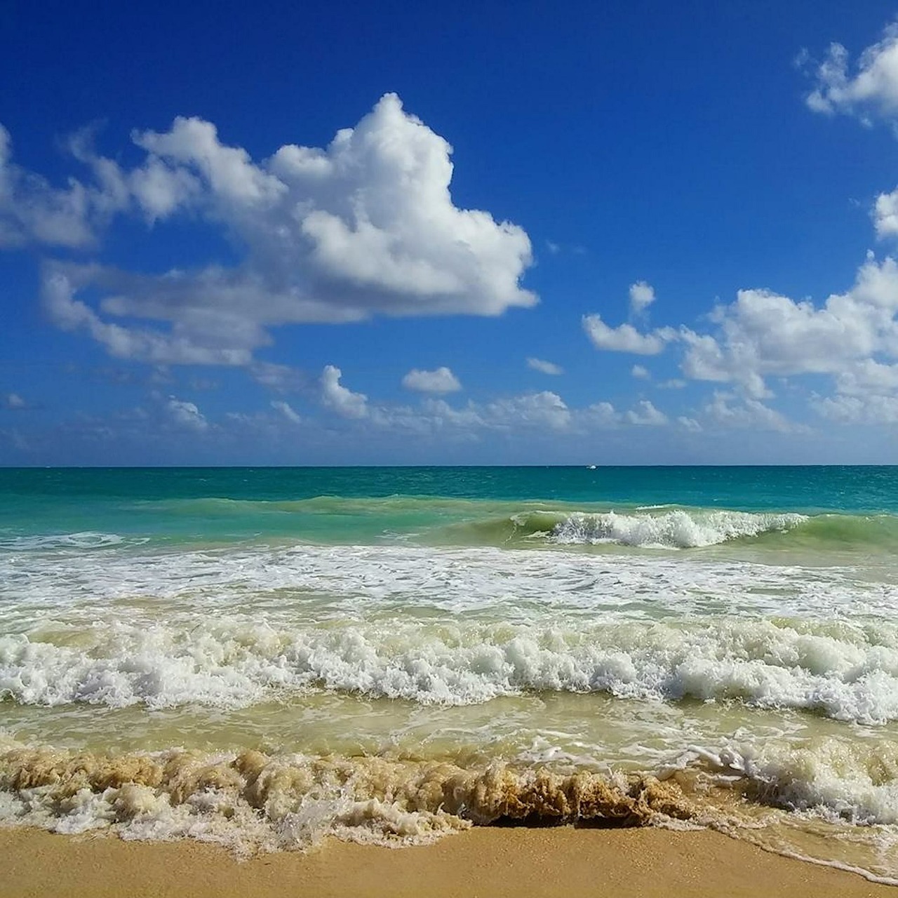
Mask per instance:
[[[295,848],[327,833],[352,841],[430,841],[471,824],[692,819],[674,783],[505,764],[382,757],[108,756],[16,746],[0,753],[13,816],[61,832],[110,826],[130,838],[191,835],[233,849]]]

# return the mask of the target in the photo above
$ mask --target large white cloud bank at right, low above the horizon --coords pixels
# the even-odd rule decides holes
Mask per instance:
[[[707,320],[712,326],[709,333],[685,326],[645,333],[629,324],[612,328],[598,315],[586,316],[583,323],[598,348],[653,355],[675,342],[682,346],[685,378],[737,386],[740,401],[716,392],[705,409],[707,418],[718,426],[806,430],[763,400],[772,396],[770,377],[788,384],[792,376],[812,374],[832,378],[836,393],[832,404],[825,405],[819,398],[815,403],[826,417],[866,420],[863,416],[868,414],[870,420],[875,418],[873,412],[858,410],[863,406],[882,409],[882,417],[891,420],[887,398],[898,393],[898,264],[893,259],[877,261],[868,253],[850,289],[831,295],[823,304],[767,289],[739,290],[734,303],[718,305]],[[634,365],[631,373],[649,376],[644,365]],[[679,388],[685,382],[674,379],[659,385]],[[865,401],[845,402],[838,398],[842,396]],[[651,417],[647,409],[639,408],[624,415],[631,424]]]

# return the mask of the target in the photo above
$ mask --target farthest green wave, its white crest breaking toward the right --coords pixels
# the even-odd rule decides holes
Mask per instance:
[[[605,544],[700,549],[760,541],[765,548],[825,548],[838,544],[841,548],[889,549],[898,541],[898,515],[799,514],[670,505],[615,509],[590,503],[576,506],[446,497],[321,496],[293,501],[210,497],[145,503],[134,506],[134,511],[135,520],[145,522],[154,535],[0,535],[0,550],[127,548],[147,541],[176,545],[180,538],[201,543],[232,539],[235,535],[250,540],[330,544],[412,541],[427,545],[529,548],[540,544]],[[157,521],[154,515],[163,516]],[[173,532],[154,532],[159,521],[166,523],[170,531],[172,522],[177,526]]]

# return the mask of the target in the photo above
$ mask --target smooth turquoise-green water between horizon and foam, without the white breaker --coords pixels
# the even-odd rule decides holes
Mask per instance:
[[[898,468],[0,469],[0,534],[7,536],[369,541],[485,522],[515,508],[640,506],[846,515],[854,520],[832,529],[850,540],[864,538],[852,526],[863,530],[878,516],[879,535],[890,538],[886,515],[898,515]],[[876,524],[868,533],[876,541]]]

